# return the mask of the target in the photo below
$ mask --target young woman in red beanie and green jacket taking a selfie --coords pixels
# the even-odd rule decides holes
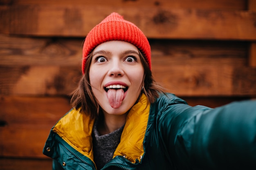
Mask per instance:
[[[256,101],[212,109],[164,93],[147,38],[118,13],[86,37],[82,71],[43,150],[54,170],[256,167]]]

